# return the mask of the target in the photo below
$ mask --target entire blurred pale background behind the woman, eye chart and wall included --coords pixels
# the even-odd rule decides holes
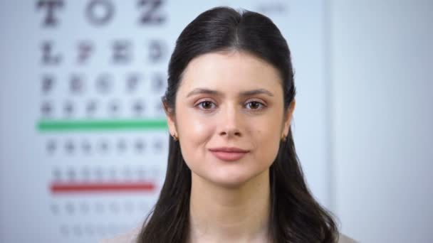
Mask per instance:
[[[292,129],[315,198],[360,242],[433,242],[433,1],[0,1],[0,242],[96,242],[165,176],[160,97],[214,6],[288,41]]]

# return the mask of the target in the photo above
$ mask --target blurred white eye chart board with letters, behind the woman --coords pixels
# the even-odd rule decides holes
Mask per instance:
[[[96,242],[140,225],[165,176],[169,56],[221,5],[264,13],[286,37],[298,154],[330,204],[322,1],[2,1],[0,242]]]

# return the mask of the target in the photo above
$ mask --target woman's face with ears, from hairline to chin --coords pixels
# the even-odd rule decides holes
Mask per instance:
[[[187,65],[167,120],[193,176],[236,187],[268,173],[293,109],[285,114],[272,65],[248,53],[208,53]]]

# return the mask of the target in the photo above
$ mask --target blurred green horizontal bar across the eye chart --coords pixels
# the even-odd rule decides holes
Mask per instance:
[[[166,130],[165,119],[111,119],[111,120],[41,120],[38,131],[125,131]]]

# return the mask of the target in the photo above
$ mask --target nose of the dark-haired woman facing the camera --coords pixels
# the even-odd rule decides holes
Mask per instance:
[[[241,114],[236,110],[236,107],[226,107],[226,109],[221,112],[219,135],[228,138],[241,136],[241,120]]]

